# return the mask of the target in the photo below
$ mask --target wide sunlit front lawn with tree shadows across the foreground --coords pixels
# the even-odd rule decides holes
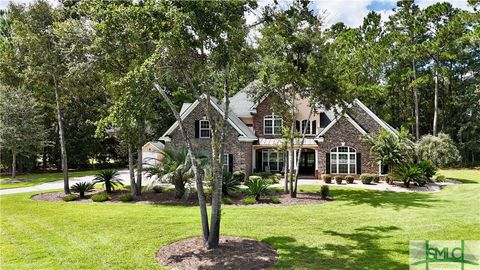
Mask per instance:
[[[318,190],[319,187],[301,187]],[[408,269],[417,239],[480,239],[480,185],[436,193],[331,188],[334,201],[222,210],[223,235],[273,245],[274,269]],[[0,197],[2,269],[162,269],[157,250],[198,236],[198,207]]]

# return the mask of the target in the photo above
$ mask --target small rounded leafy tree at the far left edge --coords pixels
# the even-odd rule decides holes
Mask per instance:
[[[13,179],[17,156],[36,156],[47,143],[42,122],[43,115],[30,92],[0,84],[0,145],[12,153]]]

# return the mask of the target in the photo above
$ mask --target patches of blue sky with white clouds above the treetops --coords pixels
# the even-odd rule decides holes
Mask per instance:
[[[16,3],[30,3],[34,0],[13,0]],[[48,0],[55,2],[55,0]],[[0,0],[0,9],[8,5],[9,0]],[[273,0],[258,0],[259,6],[272,3]],[[281,4],[288,5],[291,0],[279,0]],[[337,22],[344,22],[347,26],[359,26],[369,11],[374,10],[387,18],[392,14],[397,0],[314,0],[312,8],[324,14],[326,24],[331,25]],[[424,8],[436,2],[450,2],[454,7],[467,9],[467,0],[416,0],[420,7]],[[254,22],[256,14],[247,15],[247,21]]]

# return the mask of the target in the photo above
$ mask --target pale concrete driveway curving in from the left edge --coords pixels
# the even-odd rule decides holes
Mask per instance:
[[[119,178],[121,179],[122,183],[124,185],[130,185],[128,170],[120,170],[120,171],[118,171],[118,173],[120,174]],[[75,183],[78,183],[78,182],[92,182],[93,178],[94,178],[93,175],[70,178],[70,180],[69,180],[70,186],[72,186],[72,185],[74,185]],[[144,176],[143,180],[142,180],[142,184],[146,185],[149,182],[150,181],[148,179],[145,179],[145,176]],[[63,189],[63,180],[43,183],[43,184],[32,186],[32,187],[2,189],[2,190],[0,190],[0,195],[17,194],[17,193],[34,192],[34,191],[43,191],[43,190],[52,190],[52,189]]]

